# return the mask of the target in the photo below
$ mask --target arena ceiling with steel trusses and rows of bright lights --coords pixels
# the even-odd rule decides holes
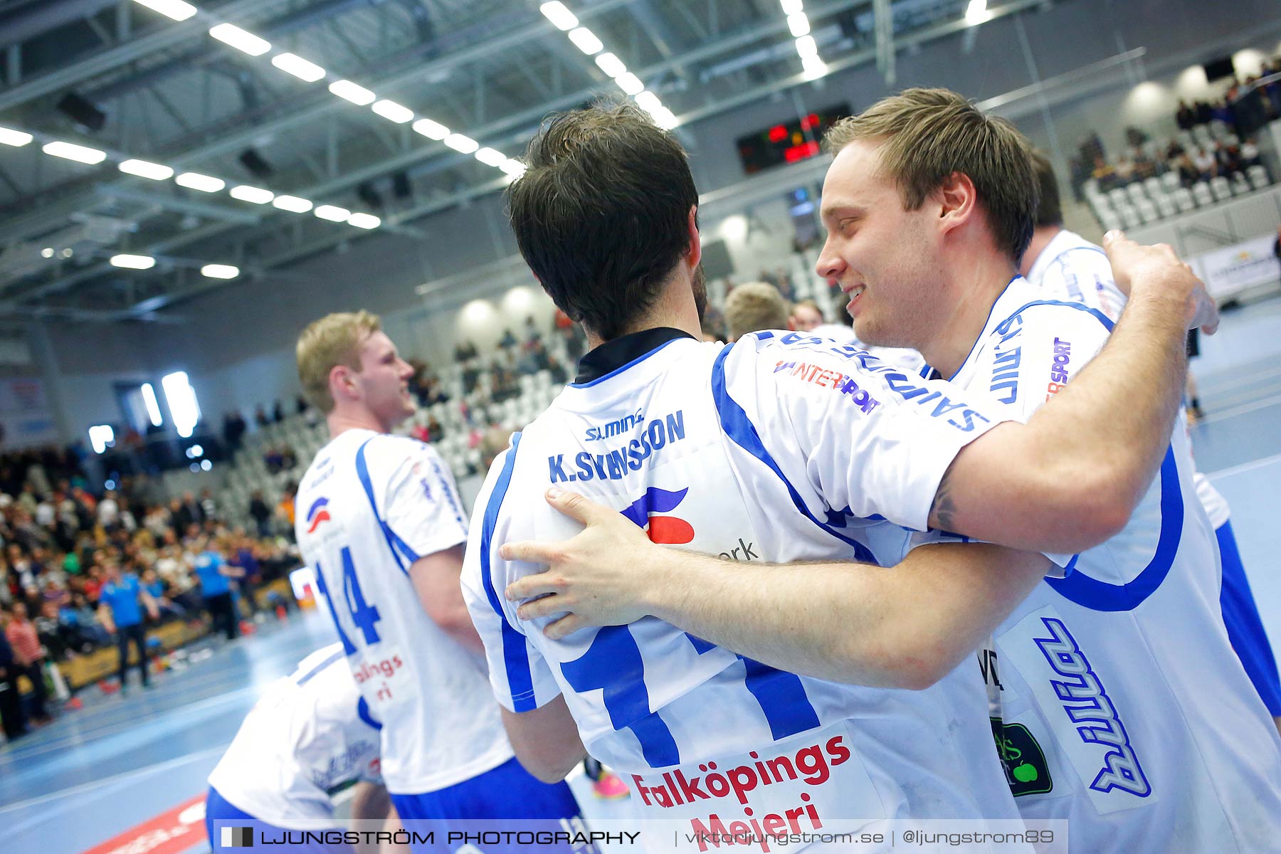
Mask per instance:
[[[0,316],[156,319],[379,230],[429,241],[550,111],[625,92],[679,127],[865,63],[892,81],[895,46],[981,4],[0,3]]]

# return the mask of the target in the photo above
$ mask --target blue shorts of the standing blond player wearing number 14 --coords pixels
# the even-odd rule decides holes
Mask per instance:
[[[596,851],[594,845],[570,844],[506,844],[501,839],[450,839],[450,834],[502,831],[569,831],[582,828],[578,802],[569,785],[544,784],[525,771],[520,762],[509,759],[447,789],[419,795],[392,794],[392,804],[406,830],[432,831],[434,844],[410,842],[414,854],[452,854],[466,844],[485,854],[521,851],[538,854],[570,854]]]

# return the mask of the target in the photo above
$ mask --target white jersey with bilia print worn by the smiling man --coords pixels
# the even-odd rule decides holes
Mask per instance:
[[[1112,328],[1047,296],[1011,282],[953,378],[1018,420]],[[1022,814],[1070,819],[1082,854],[1276,850],[1281,740],[1223,629],[1218,548],[1181,426],[1125,530],[1068,566],[997,629],[994,656],[980,650]]]

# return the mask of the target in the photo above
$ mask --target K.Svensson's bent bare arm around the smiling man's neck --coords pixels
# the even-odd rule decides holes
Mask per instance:
[[[1027,424],[1002,424],[957,455],[931,528],[1075,553],[1125,528],[1148,492],[1179,414],[1184,330],[1213,332],[1218,314],[1168,246],[1118,232],[1104,242],[1117,286],[1130,291],[1107,346]]]

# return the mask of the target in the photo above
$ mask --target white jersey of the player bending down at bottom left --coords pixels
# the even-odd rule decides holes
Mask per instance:
[[[257,819],[305,830],[333,818],[329,791],[354,780],[379,780],[378,721],[342,654],[319,649],[272,684],[254,705],[209,785]]]

